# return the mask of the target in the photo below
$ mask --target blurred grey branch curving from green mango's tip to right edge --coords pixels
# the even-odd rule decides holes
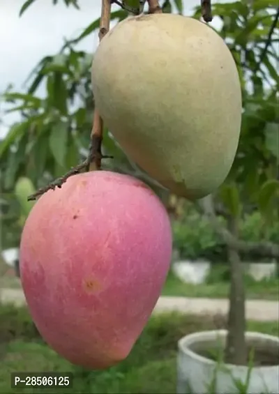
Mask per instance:
[[[223,241],[229,246],[238,250],[239,252],[255,253],[262,257],[279,257],[279,245],[271,242],[246,242],[236,239],[231,232],[229,232],[223,225],[220,224],[216,216],[216,212],[213,206],[212,196],[201,199],[199,205],[202,206],[202,210],[209,218],[211,225],[215,229],[216,233],[223,238]]]

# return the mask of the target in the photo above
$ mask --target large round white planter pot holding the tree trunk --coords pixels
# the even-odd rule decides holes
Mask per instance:
[[[226,330],[203,331],[187,335],[179,340],[177,358],[177,394],[209,393],[209,385],[216,377],[215,394],[238,394],[232,376],[245,384],[248,367],[242,365],[218,365],[215,361],[200,356],[198,351],[210,349],[214,345],[224,347]],[[278,348],[279,338],[261,333],[246,333],[246,340],[255,347]],[[198,350],[199,349],[199,350]],[[197,351],[197,352],[196,352]],[[278,361],[279,364],[279,361]],[[187,391],[188,390],[188,391]],[[247,393],[279,393],[279,365],[255,367],[250,373]]]

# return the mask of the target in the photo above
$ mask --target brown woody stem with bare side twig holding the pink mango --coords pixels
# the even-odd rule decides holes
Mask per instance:
[[[100,15],[100,31],[99,40],[107,34],[110,30],[110,10],[111,10],[111,0],[102,0],[102,10]],[[101,145],[103,141],[103,120],[100,117],[98,109],[95,109],[93,116],[93,126],[91,130],[91,142],[89,146],[89,155],[84,162],[80,163],[76,167],[73,167],[66,174],[56,179],[44,188],[40,188],[36,193],[28,197],[28,201],[34,200],[40,195],[43,195],[47,190],[54,190],[55,188],[61,188],[63,183],[67,181],[70,176],[79,174],[84,169],[88,171],[89,169],[100,169],[102,158],[111,158],[111,156],[103,156],[101,151]]]

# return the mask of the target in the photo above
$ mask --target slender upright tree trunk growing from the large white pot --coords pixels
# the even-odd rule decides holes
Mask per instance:
[[[238,219],[229,217],[228,227],[229,231],[237,238],[239,235]],[[228,259],[231,268],[231,287],[225,362],[233,365],[247,365],[243,266],[239,252],[234,248],[228,248]]]

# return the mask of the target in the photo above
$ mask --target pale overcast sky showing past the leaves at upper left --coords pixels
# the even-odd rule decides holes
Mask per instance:
[[[52,0],[37,0],[19,17],[23,3],[24,0],[0,0],[0,93],[10,83],[15,89],[22,89],[30,71],[43,56],[55,54],[64,37],[77,36],[100,16],[100,0],[80,0],[80,10],[67,8],[61,0],[56,6]],[[186,15],[198,3],[199,0],[184,0]],[[218,18],[213,20],[213,25],[216,24],[219,24]],[[78,48],[93,52],[97,45],[96,34],[84,39]],[[15,116],[4,119],[6,125],[13,121]],[[6,131],[7,126],[0,123],[0,138]]]

